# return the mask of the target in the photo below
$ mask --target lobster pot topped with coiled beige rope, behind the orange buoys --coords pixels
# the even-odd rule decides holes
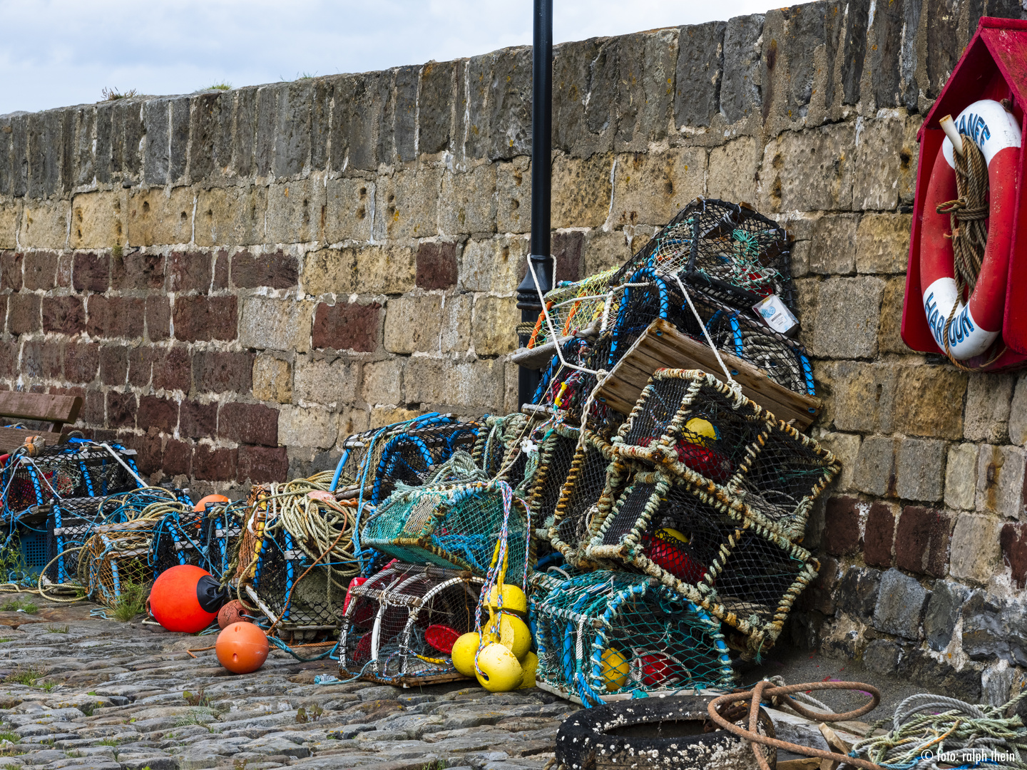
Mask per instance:
[[[246,500],[237,595],[292,640],[335,628],[349,579],[359,573],[352,543],[356,507],[335,499],[331,479],[320,473],[260,485]]]

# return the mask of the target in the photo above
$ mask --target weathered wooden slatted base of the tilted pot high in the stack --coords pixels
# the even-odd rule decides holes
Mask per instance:
[[[816,419],[822,401],[820,398],[795,393],[778,385],[760,369],[723,350],[724,364],[741,385],[747,398],[760,405],[778,420],[792,421],[799,430],[806,430]],[[657,369],[698,369],[723,379],[724,372],[717,357],[705,343],[679,332],[673,324],[657,319],[624,353],[596,397],[622,414],[631,412],[645,385],[639,384],[639,375],[652,375]]]

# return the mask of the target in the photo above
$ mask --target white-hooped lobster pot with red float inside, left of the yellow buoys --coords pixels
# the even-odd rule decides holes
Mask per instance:
[[[404,687],[465,679],[450,650],[474,630],[483,585],[466,571],[396,563],[350,588],[339,670]]]

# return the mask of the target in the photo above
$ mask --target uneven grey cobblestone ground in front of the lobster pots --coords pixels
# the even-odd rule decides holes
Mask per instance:
[[[0,770],[515,770],[553,758],[576,705],[538,689],[493,695],[467,682],[423,689],[315,685],[334,661],[273,652],[234,676],[213,637],[90,618],[30,594],[0,612]],[[9,605],[8,605],[9,606]]]

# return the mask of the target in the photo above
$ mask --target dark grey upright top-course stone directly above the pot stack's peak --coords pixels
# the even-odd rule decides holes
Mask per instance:
[[[678,30],[674,124],[680,130],[709,126],[720,111],[717,98],[723,77],[726,27],[725,22],[708,22]]]

